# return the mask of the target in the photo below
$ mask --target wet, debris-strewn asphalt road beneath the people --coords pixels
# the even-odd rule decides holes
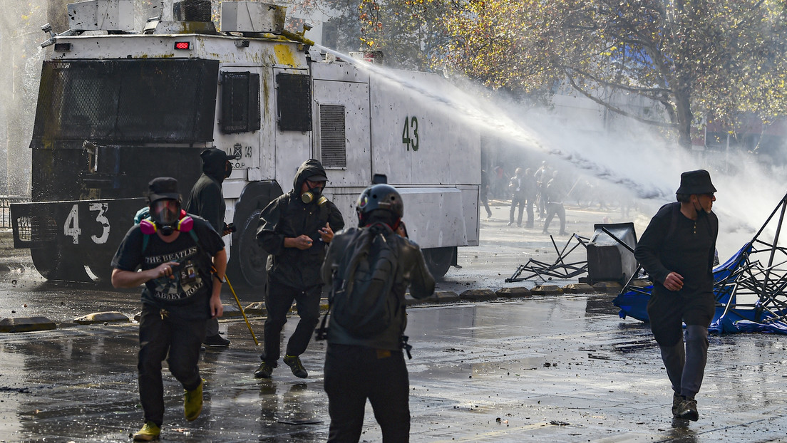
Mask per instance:
[[[493,210],[499,217],[483,223],[482,246],[460,249],[463,268],[449,271],[440,289],[534,286],[502,279],[526,257],[548,257],[548,238],[505,227],[505,208]],[[569,230],[586,236],[600,222],[600,214],[572,216]],[[648,327],[619,319],[613,297],[410,308],[411,441],[785,439],[787,337],[711,336],[697,397],[700,421],[674,422],[671,389]],[[136,325],[71,323],[105,310],[132,316],[137,291],[42,282],[29,269],[0,275],[0,317],[46,315],[58,323],[57,330],[0,334],[0,441],[130,441],[142,425]],[[263,319],[251,320],[259,339]],[[286,337],[295,323],[286,324]],[[324,344],[312,342],[302,356],[309,378],[295,378],[281,365],[272,380],[259,380],[252,372],[260,349],[242,319],[222,320],[220,328],[232,345],[203,353],[199,419],[183,418],[183,389],[164,375],[162,441],[325,441]],[[361,439],[381,441],[371,407]]]

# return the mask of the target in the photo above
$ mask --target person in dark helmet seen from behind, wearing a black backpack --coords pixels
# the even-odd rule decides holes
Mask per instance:
[[[401,195],[376,184],[360,194],[358,226],[339,232],[328,248],[323,280],[332,288],[324,389],[331,426],[328,441],[359,441],[367,399],[382,441],[408,441],[409,356],[405,291],[434,293],[434,278],[415,242],[402,237]],[[320,332],[320,331],[319,331]]]

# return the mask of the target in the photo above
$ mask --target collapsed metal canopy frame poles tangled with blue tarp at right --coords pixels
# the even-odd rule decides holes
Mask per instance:
[[[785,212],[787,194],[781,198],[752,240],[730,260],[714,269],[713,290],[717,307],[715,323],[734,314],[755,323],[780,323],[787,328],[787,248],[779,245]],[[773,240],[767,242],[761,237],[774,222],[777,213],[778,221]],[[640,269],[641,267],[626,282],[619,296],[627,292],[650,295],[650,287],[632,286]],[[754,301],[739,302],[740,297],[747,296],[753,297]]]

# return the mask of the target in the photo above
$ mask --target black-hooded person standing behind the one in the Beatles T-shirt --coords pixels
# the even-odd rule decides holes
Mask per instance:
[[[194,183],[189,193],[189,199],[183,209],[186,212],[201,216],[208,220],[208,223],[220,233],[222,237],[235,231],[235,227],[224,223],[224,192],[221,183],[230,176],[232,172],[231,160],[237,157],[224,153],[223,150],[209,148],[200,153],[202,159],[202,175]],[[230,341],[219,335],[219,319],[209,319],[205,331],[205,345],[209,346],[229,346]]]

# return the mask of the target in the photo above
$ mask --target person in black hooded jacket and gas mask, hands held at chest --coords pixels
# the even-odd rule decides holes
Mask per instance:
[[[287,341],[283,361],[296,377],[309,376],[300,355],[306,351],[320,321],[320,266],[326,245],[334,238],[334,229],[344,227],[342,213],[322,195],[327,180],[323,165],[307,160],[295,173],[293,189],[275,198],[260,213],[257,242],[269,254],[265,293],[268,317],[262,363],[254,371],[257,378],[271,378],[278,365],[279,334],[293,301],[301,319]]]

